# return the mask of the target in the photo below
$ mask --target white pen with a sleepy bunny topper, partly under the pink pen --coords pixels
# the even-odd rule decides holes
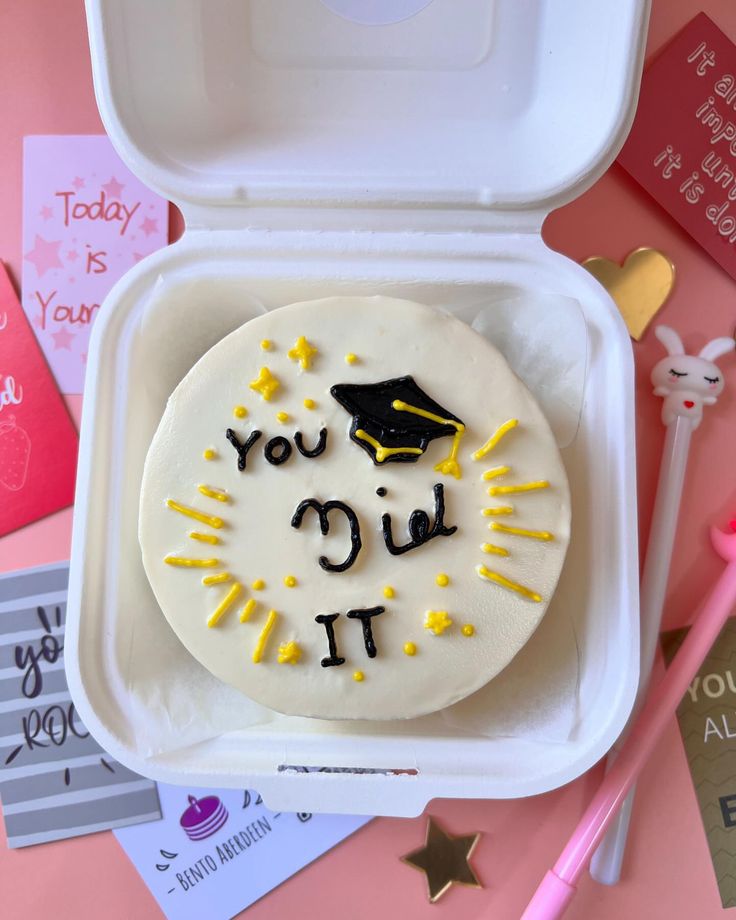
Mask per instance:
[[[651,376],[654,395],[664,397],[662,422],[667,428],[667,434],[641,576],[639,690],[627,727],[608,755],[609,768],[626,739],[628,728],[641,707],[649,685],[672,560],[690,437],[702,421],[703,407],[714,405],[723,392],[723,374],[713,362],[734,350],[734,340],[724,337],[708,342],[698,355],[688,355],[674,329],[658,326],[654,334],[667,349],[667,356],[654,365]],[[591,875],[604,885],[615,885],[621,876],[633,799],[634,787],[591,862]]]

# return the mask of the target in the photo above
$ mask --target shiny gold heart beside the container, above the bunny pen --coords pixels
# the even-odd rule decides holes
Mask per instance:
[[[672,292],[675,266],[664,253],[646,246],[629,253],[623,265],[603,256],[591,256],[582,265],[614,299],[629,335],[638,342]]]

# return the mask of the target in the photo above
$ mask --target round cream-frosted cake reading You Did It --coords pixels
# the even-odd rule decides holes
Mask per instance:
[[[334,297],[251,320],[187,374],[139,535],[212,674],[283,713],[396,719],[506,667],[569,527],[552,432],[492,345],[421,304]]]

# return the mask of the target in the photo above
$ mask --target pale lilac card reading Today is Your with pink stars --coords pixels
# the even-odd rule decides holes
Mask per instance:
[[[84,388],[90,329],[110,288],[167,237],[168,202],[105,135],[24,139],[22,302],[62,393]]]

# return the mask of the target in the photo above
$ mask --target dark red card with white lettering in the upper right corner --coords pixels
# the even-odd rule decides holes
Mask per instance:
[[[647,68],[619,163],[736,278],[736,46],[705,13]]]

